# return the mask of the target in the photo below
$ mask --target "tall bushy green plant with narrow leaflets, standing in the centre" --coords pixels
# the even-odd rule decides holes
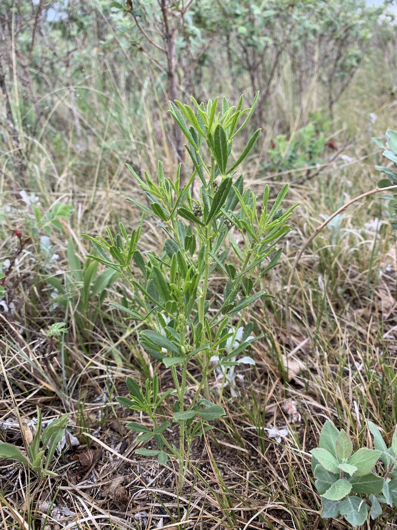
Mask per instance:
[[[91,258],[120,272],[133,291],[128,306],[112,303],[127,319],[140,323],[139,343],[152,357],[169,368],[175,388],[159,394],[157,375],[146,381],[144,394],[136,382],[127,378],[129,398],[118,398],[119,403],[150,417],[153,426],[129,423],[128,427],[141,432],[138,441],[154,437],[157,449],[138,449],[137,453],[157,456],[162,464],[168,456],[177,457],[179,487],[186,471],[185,454],[190,444],[203,430],[210,428],[207,421],[224,415],[219,404],[210,401],[207,378],[213,370],[236,365],[236,356],[259,337],[250,337],[253,324],[245,326],[239,345],[227,352],[227,340],[233,337],[231,319],[239,320],[259,298],[269,297],[260,289],[260,277],[276,266],[282,249],[277,243],[290,226],[292,206],[281,208],[287,193],[286,184],[268,211],[269,188],[263,192],[261,205],[249,189],[244,190],[243,175],[236,175],[238,165],[246,158],[260,133],[257,130],[241,154],[231,156],[233,139],[247,125],[254,111],[257,96],[251,107],[242,108],[241,96],[236,107],[218,98],[205,106],[194,99],[193,109],[179,101],[170,102],[170,113],[186,137],[185,145],[192,161],[192,174],[185,185],[179,185],[181,165],[176,179],[168,178],[159,161],[157,181],[145,172],[145,180],[129,167],[140,188],[145,192],[149,206],[136,199],[130,200],[143,211],[140,224],[131,236],[120,224],[120,234],[107,229],[109,241],[102,237],[88,237],[96,251]],[[241,121],[241,123],[240,123]],[[208,157],[204,162],[204,158]],[[198,181],[200,198],[193,198],[192,185]],[[156,220],[164,232],[162,251],[140,250],[144,217]],[[243,244],[236,241],[230,228],[240,233]],[[211,275],[222,275],[222,297],[208,295]],[[236,316],[238,315],[238,316]],[[143,324],[143,325],[142,325]],[[146,329],[145,329],[146,328]],[[211,364],[211,358],[217,360]],[[202,376],[193,377],[188,364],[195,363]],[[178,368],[181,367],[181,368]],[[195,391],[187,402],[185,397],[191,380]],[[203,396],[201,393],[203,392]],[[161,418],[160,403],[168,396],[175,397],[173,421],[179,423],[179,447],[166,439],[168,421]],[[186,442],[186,447],[185,447]],[[185,451],[186,450],[186,451]]]

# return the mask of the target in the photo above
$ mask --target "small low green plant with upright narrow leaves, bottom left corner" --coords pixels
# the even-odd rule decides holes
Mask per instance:
[[[41,431],[41,420],[41,411],[37,407],[37,427],[33,441],[28,445],[28,457],[24,456],[17,447],[6,443],[0,443],[0,457],[22,462],[39,478],[43,478],[46,475],[57,476],[57,473],[50,471],[48,467],[58,442],[65,434],[69,414],[63,414],[57,420],[51,421],[43,431]]]

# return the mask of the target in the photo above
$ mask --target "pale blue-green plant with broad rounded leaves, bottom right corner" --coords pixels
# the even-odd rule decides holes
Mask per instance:
[[[382,505],[397,506],[397,427],[389,448],[372,421],[368,428],[375,449],[361,447],[353,452],[346,432],[339,431],[330,421],[324,423],[319,447],[310,451],[322,517],[342,515],[357,526],[365,523],[368,514],[371,519],[382,515]]]

